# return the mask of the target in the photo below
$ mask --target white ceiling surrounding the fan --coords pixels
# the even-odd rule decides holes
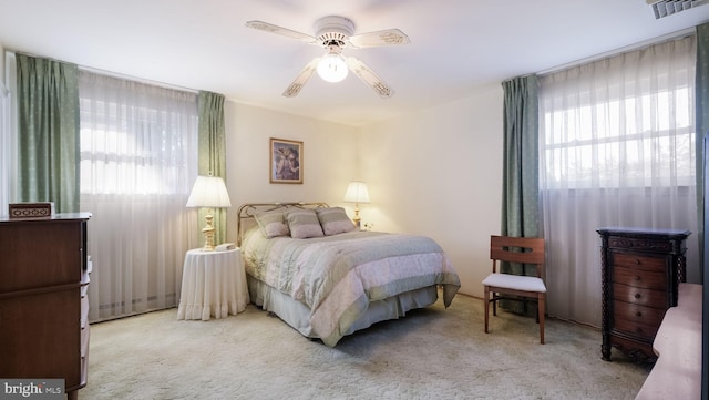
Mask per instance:
[[[282,91],[321,48],[245,27],[314,34],[320,17],[356,34],[399,28],[407,45],[346,49],[395,91],[314,75]],[[298,115],[364,125],[709,21],[709,6],[656,20],[645,0],[0,0],[0,45]],[[499,88],[499,86],[496,86]]]

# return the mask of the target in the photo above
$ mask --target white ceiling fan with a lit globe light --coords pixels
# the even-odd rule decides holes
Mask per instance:
[[[315,58],[306,64],[302,71],[300,71],[300,74],[298,74],[295,81],[286,89],[282,94],[287,98],[298,95],[302,86],[316,71],[318,71],[320,78],[328,82],[339,82],[347,76],[348,69],[357,74],[362,82],[373,89],[381,98],[391,98],[393,94],[391,86],[360,60],[353,57],[342,57],[342,49],[347,47],[357,49],[409,43],[409,37],[398,29],[387,29],[353,35],[354,23],[352,20],[338,16],[323,17],[317,20],[314,24],[315,37],[263,21],[248,21],[246,25],[325,48],[325,55]]]

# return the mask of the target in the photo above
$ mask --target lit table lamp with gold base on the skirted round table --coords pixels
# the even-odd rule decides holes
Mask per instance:
[[[224,180],[218,176],[197,176],[195,185],[192,187],[187,207],[205,207],[207,215],[204,219],[205,227],[202,229],[204,234],[203,252],[214,252],[214,225],[212,225],[212,208],[230,207],[229,194],[226,191]]]

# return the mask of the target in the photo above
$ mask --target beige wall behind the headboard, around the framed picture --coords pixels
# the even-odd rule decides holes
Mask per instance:
[[[326,202],[342,205],[357,178],[357,129],[227,101],[227,237],[236,242],[236,213],[244,203]],[[269,183],[269,139],[304,142],[304,183]],[[351,208],[351,207],[350,207]]]

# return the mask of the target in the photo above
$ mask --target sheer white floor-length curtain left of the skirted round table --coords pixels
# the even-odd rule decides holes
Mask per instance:
[[[197,175],[196,93],[80,75],[81,209],[91,212],[92,321],[176,305]]]

